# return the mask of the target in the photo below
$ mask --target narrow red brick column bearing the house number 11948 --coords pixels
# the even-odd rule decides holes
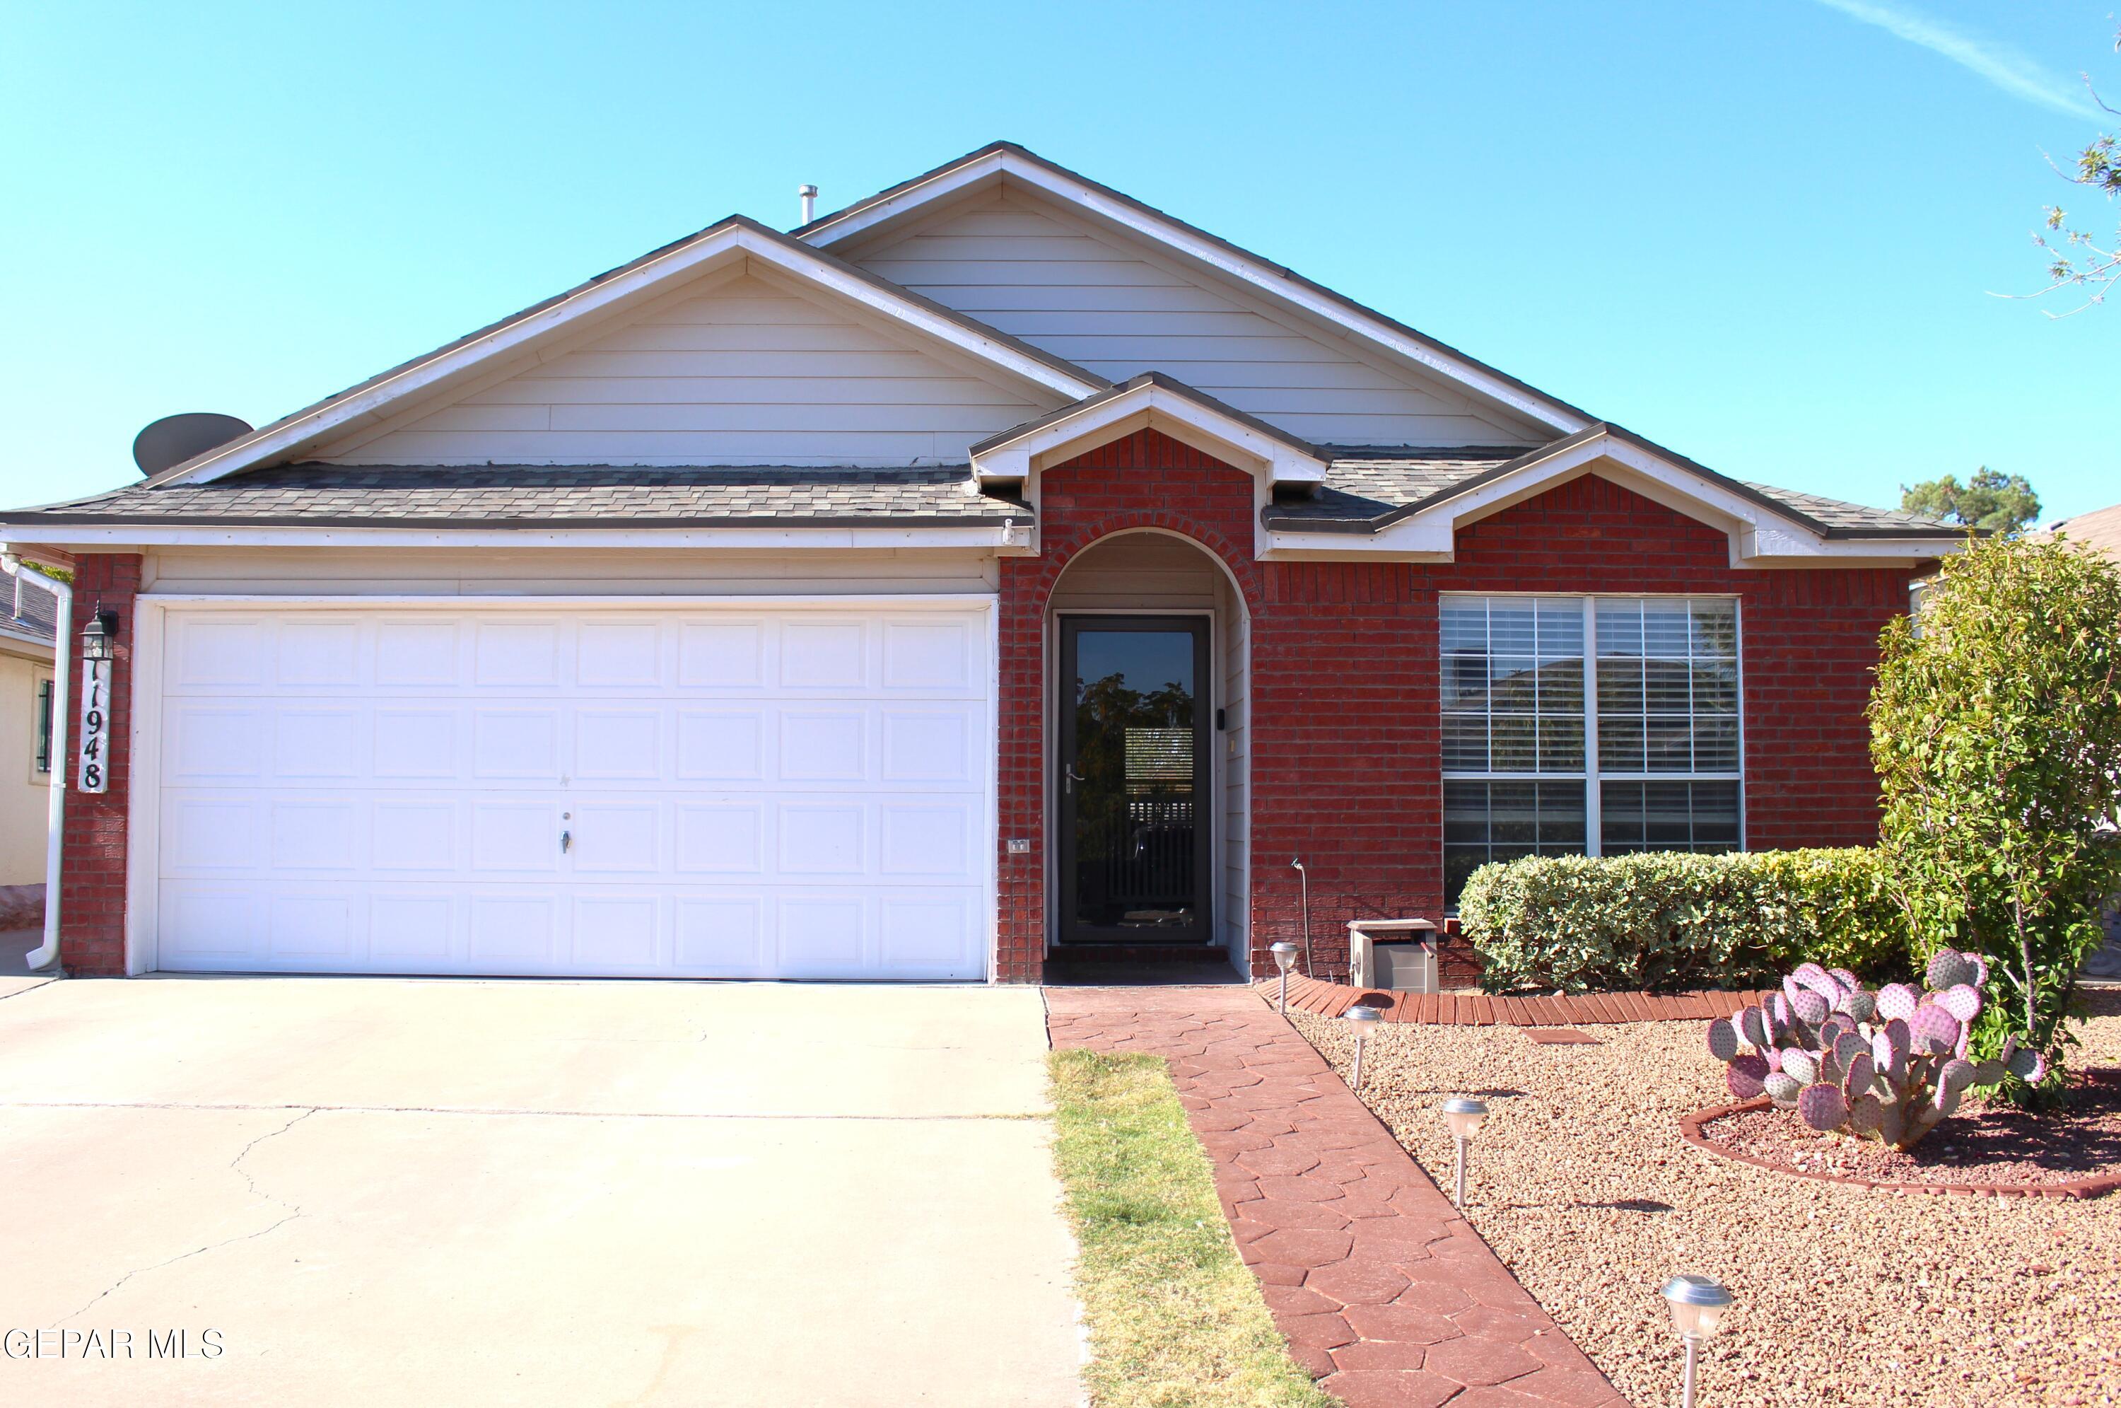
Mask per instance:
[[[132,651],[134,598],[140,594],[138,553],[85,553],[74,564],[74,615],[59,621],[62,643],[74,640],[95,611],[119,619],[110,662],[110,785],[104,793],[74,791],[81,776],[81,662],[74,659],[66,721],[66,861],[59,876],[59,963],[76,978],[125,973],[125,821],[132,797]]]

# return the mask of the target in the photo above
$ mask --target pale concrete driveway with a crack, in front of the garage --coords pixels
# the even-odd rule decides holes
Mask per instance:
[[[1044,1050],[1012,988],[15,988],[0,1402],[1075,1404]]]

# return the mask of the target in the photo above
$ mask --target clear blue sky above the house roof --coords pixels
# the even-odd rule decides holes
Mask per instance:
[[[1989,464],[2081,513],[2121,500],[2121,299],[1992,295],[2085,195],[2043,151],[2098,129],[2081,70],[2121,106],[2113,8],[13,0],[0,500],[1012,138],[1724,473],[1892,505]]]

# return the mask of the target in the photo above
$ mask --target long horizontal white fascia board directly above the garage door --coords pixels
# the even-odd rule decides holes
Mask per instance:
[[[25,524],[0,530],[21,534]],[[969,528],[189,528],[172,524],[49,524],[30,528],[36,547],[112,551],[127,547],[715,547],[874,549],[942,547],[991,553],[1022,547],[1020,524]]]

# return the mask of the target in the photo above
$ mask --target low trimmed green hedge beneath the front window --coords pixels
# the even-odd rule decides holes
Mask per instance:
[[[1459,927],[1489,992],[1758,988],[1805,958],[1873,982],[1913,971],[1907,916],[1858,848],[1483,865]]]

